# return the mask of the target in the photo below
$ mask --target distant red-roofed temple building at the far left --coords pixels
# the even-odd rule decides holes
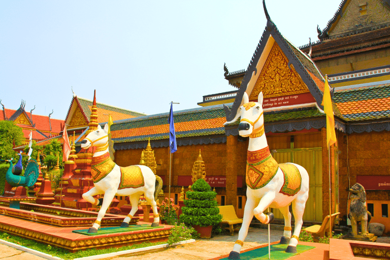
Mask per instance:
[[[8,109],[4,104],[1,104],[3,110],[0,110],[0,120],[13,121],[17,126],[20,126],[24,135],[23,144],[28,144],[29,135],[32,133],[32,140],[39,141],[51,137],[58,136],[63,128],[63,120],[51,118],[48,116],[35,115],[24,110],[26,103],[22,101],[17,110]]]

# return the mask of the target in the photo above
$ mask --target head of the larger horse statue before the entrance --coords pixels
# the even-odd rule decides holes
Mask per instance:
[[[237,110],[234,119],[224,124],[230,124],[241,117],[238,125],[238,132],[242,137],[255,137],[264,134],[264,116],[263,116],[263,92],[257,97],[257,102],[249,102],[249,96],[244,92],[242,106]]]

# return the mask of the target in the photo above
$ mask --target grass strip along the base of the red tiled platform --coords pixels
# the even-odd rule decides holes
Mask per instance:
[[[85,257],[85,256],[91,256],[91,255],[98,255],[98,254],[107,254],[112,252],[118,252],[118,251],[124,251],[124,250],[130,250],[130,249],[136,249],[136,248],[142,248],[142,247],[148,247],[148,246],[155,246],[155,245],[161,245],[161,244],[167,244],[167,242],[143,242],[141,244],[134,244],[134,245],[128,245],[128,246],[122,246],[119,248],[107,248],[107,249],[86,249],[86,250],[80,250],[75,253],[70,252],[67,249],[57,247],[57,246],[51,246],[47,244],[43,244],[41,242],[27,239],[27,238],[21,238],[18,236],[10,235],[7,233],[0,234],[0,239],[6,240],[8,242],[18,244],[24,247],[28,247],[34,250],[38,250],[43,253],[51,254],[52,256],[57,256],[63,259],[74,259],[79,257]]]

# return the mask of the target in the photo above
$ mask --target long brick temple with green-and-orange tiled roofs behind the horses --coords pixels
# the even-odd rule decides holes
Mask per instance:
[[[233,89],[203,96],[200,107],[174,112],[175,153],[169,148],[168,107],[167,113],[144,115],[96,103],[99,124],[108,121],[108,114],[114,120],[115,162],[137,165],[150,145],[165,195],[170,192],[177,198],[182,186],[192,184],[193,162],[201,151],[202,167],[207,169],[205,180],[215,188],[218,203],[234,205],[242,217],[248,138],[238,135],[238,122],[223,124],[236,115],[244,92],[255,101],[262,91],[265,133],[272,155],[278,163],[297,163],[309,173],[303,220],[321,222],[331,205],[332,212],[341,212],[339,223],[346,225],[348,190],[359,182],[366,189],[372,221],[385,224],[386,232],[390,231],[388,1],[362,4],[343,0],[327,27],[317,28],[319,40],[302,47],[283,37],[266,8],[265,14],[267,24],[247,69],[230,73],[224,66],[224,77]],[[326,75],[337,136],[330,153],[321,105]],[[78,137],[88,129],[91,107],[92,101],[77,96],[72,99],[65,121],[68,135],[76,133],[76,146],[80,147]],[[282,218],[279,210],[274,214]]]

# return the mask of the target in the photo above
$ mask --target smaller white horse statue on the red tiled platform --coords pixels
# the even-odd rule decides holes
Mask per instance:
[[[146,201],[153,209],[152,226],[158,226],[160,221],[156,198],[158,192],[163,187],[163,181],[160,177],[154,175],[149,167],[143,165],[133,165],[128,167],[119,167],[110,158],[108,151],[108,125],[104,129],[98,125],[98,129],[87,135],[81,141],[81,148],[88,149],[96,146],[91,161],[91,175],[94,187],[83,194],[83,199],[97,206],[102,206],[98,213],[98,218],[89,228],[88,233],[96,233],[100,228],[102,218],[106,214],[108,207],[115,196],[129,196],[132,210],[123,219],[121,228],[127,228],[128,223],[138,210],[138,201],[141,194],[145,194]],[[158,181],[157,192],[155,192],[156,179]],[[104,194],[103,199],[96,199],[92,196]]]

